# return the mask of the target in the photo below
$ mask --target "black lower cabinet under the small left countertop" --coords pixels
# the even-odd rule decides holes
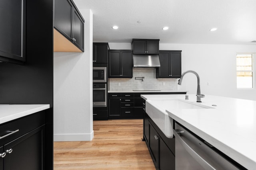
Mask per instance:
[[[0,170],[46,169],[46,112],[40,111],[0,125]],[[28,124],[29,122],[29,124]]]

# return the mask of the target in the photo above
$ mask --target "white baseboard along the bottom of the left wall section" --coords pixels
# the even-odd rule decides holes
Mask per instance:
[[[94,136],[94,131],[92,133],[82,133],[82,134],[54,134],[53,141],[92,141]]]

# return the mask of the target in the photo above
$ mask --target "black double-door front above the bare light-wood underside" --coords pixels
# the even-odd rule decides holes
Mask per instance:
[[[84,51],[84,18],[72,0],[54,0],[54,28]]]

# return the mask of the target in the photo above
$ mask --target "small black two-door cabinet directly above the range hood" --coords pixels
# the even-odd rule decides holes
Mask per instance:
[[[132,39],[134,54],[158,54],[159,39]]]

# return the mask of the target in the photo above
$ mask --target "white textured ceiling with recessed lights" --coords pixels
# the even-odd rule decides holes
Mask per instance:
[[[93,13],[93,41],[131,43],[251,44],[256,0],[74,0]],[[138,23],[141,21],[141,23]],[[86,24],[86,23],[85,23]],[[119,28],[112,29],[113,25]],[[168,26],[168,30],[162,27]],[[211,28],[218,28],[210,31]]]

